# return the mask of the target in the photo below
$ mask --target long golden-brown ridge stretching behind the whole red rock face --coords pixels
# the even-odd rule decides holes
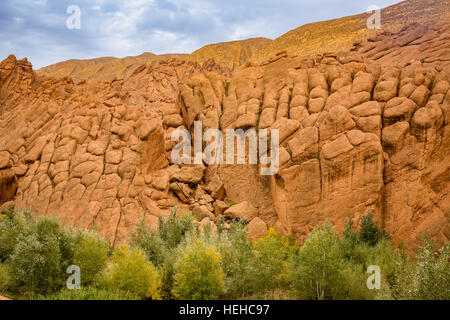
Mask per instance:
[[[397,32],[412,23],[450,21],[450,0],[407,0],[381,10],[381,31]],[[246,64],[266,63],[277,53],[316,55],[349,50],[355,41],[375,35],[380,30],[369,30],[366,21],[370,14],[361,13],[302,25],[274,40],[249,38],[208,44],[190,54],[143,53],[125,58],[101,57],[87,60],[62,61],[37,70],[50,77],[72,77],[74,81],[123,79],[142,64],[166,58],[179,58],[200,64],[213,59],[231,72]]]

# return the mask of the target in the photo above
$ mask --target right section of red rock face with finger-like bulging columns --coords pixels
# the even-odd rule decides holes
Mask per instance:
[[[250,202],[279,232],[304,239],[325,220],[341,229],[370,209],[396,241],[415,244],[427,232],[443,243],[448,31],[411,25],[315,61],[284,53],[235,73],[225,92],[213,89],[219,80],[193,78],[180,108],[196,110],[189,119],[204,119],[208,128],[280,130],[277,175],[261,177],[246,165],[217,169],[226,197]],[[440,58],[427,60],[437,57],[433,48],[442,49]],[[405,61],[408,50],[417,60],[408,54]]]

